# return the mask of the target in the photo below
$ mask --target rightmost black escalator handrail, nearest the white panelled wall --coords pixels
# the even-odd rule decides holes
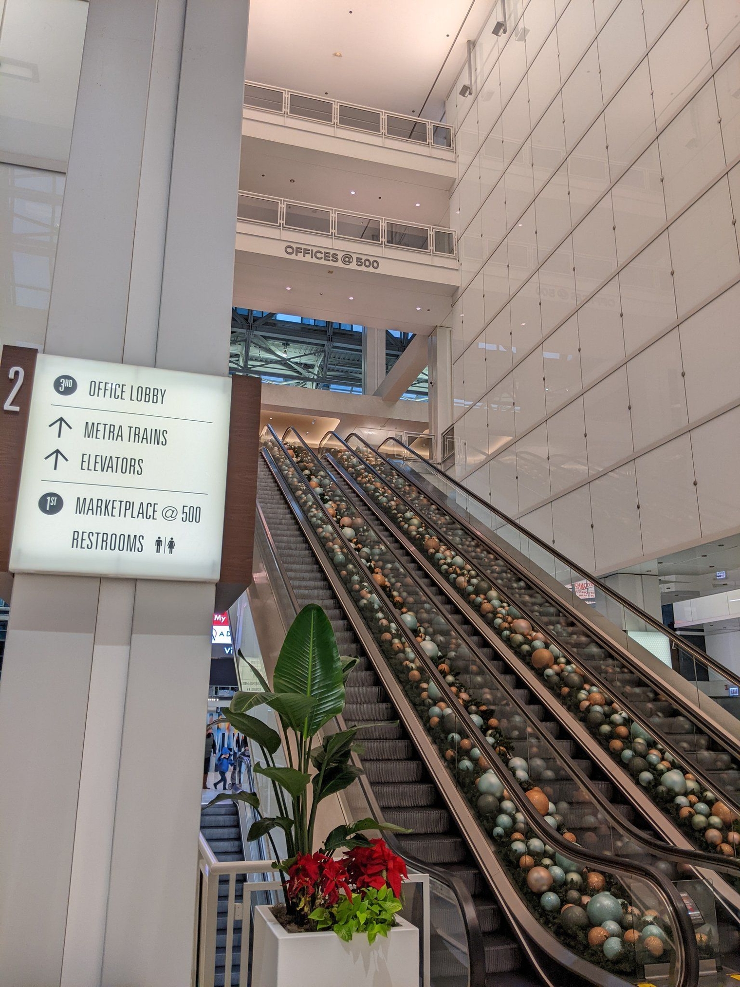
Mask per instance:
[[[324,444],[324,441],[327,439],[329,435],[332,435],[333,438],[338,438],[335,432],[329,431],[322,439],[321,445]],[[605,594],[605,596],[610,596],[613,600],[615,600],[615,602],[625,607],[625,609],[628,610],[629,612],[635,614],[640,620],[644,621],[646,624],[649,624],[651,627],[655,628],[656,631],[660,631],[660,633],[664,634],[671,641],[672,644],[681,648],[682,651],[687,651],[689,654],[692,655],[693,658],[696,658],[700,662],[700,664],[705,665],[711,671],[715,672],[718,675],[721,675],[723,678],[726,678],[728,681],[732,682],[733,685],[740,686],[740,673],[733,671],[731,668],[725,667],[723,664],[717,661],[716,658],[712,658],[711,655],[703,651],[701,647],[697,647],[697,645],[694,645],[692,644],[692,642],[687,641],[686,638],[682,638],[680,635],[676,634],[676,632],[672,631],[671,628],[666,627],[665,624],[661,624],[659,620],[657,620],[651,614],[648,614],[646,611],[642,610],[636,604],[632,603],[630,600],[627,599],[627,597],[623,596],[622,593],[619,593],[616,589],[613,589],[611,586],[607,586],[605,582],[602,582],[602,580],[598,577],[598,575],[594,575],[592,572],[589,572],[587,569],[584,569],[582,566],[574,566],[569,559],[566,559],[561,552],[557,551],[555,546],[548,545],[538,535],[534,534],[534,532],[527,530],[527,528],[519,524],[518,521],[515,521],[513,520],[513,518],[509,517],[508,514],[504,514],[504,512],[502,510],[499,510],[498,507],[493,507],[490,503],[487,503],[485,500],[483,500],[480,494],[475,493],[475,491],[468,490],[467,487],[464,487],[463,484],[461,484],[454,477],[451,477],[448,473],[445,473],[444,470],[440,469],[435,463],[432,463],[430,460],[424,459],[423,456],[420,456],[417,452],[415,452],[415,450],[407,446],[405,442],[402,442],[401,439],[395,437],[386,438],[383,440],[383,442],[380,443],[380,445],[376,449],[374,446],[370,445],[367,439],[363,438],[362,435],[358,435],[357,432],[350,432],[347,435],[346,441],[348,441],[350,438],[356,438],[358,441],[368,446],[368,448],[372,449],[373,452],[380,455],[383,459],[386,460],[386,462],[388,462],[388,455],[381,452],[381,450],[383,446],[386,444],[386,442],[391,442],[391,441],[396,442],[398,445],[402,446],[408,453],[410,453],[416,459],[420,460],[426,466],[430,467],[435,473],[439,474],[439,476],[443,477],[446,483],[452,484],[453,487],[456,487],[458,490],[461,491],[461,493],[464,493],[466,496],[473,497],[473,499],[477,500],[481,504],[481,506],[485,507],[486,510],[493,511],[495,514],[498,514],[498,516],[502,518],[502,520],[504,520],[506,524],[510,524],[512,528],[515,528],[525,538],[528,538],[530,539],[530,541],[533,541],[539,548],[543,549],[543,551],[549,553],[552,556],[555,556],[555,559],[557,559],[558,562],[562,563],[563,566],[567,566],[568,569],[572,569],[574,572],[582,575],[584,579],[587,579],[589,582],[593,582],[593,584],[598,589],[600,589],[602,593]],[[396,469],[393,463],[389,463],[389,466],[391,466],[393,469]],[[397,472],[400,473],[399,470],[397,470]],[[400,473],[400,475],[403,474]],[[424,493],[427,492],[425,491]],[[460,518],[460,520],[462,521],[464,519]],[[476,534],[481,535],[481,532],[476,532]],[[493,546],[493,548],[495,548],[495,551],[500,551],[497,546]]]

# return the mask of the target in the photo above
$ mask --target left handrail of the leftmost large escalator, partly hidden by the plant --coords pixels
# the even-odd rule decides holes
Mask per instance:
[[[287,574],[285,566],[280,558],[280,554],[277,551],[274,540],[270,533],[269,527],[267,525],[264,513],[259,505],[257,504],[258,513],[258,523],[261,528],[261,532],[264,535],[265,541],[270,551],[270,562],[275,566],[279,572],[280,579],[282,580],[283,586],[285,587],[291,602],[291,607],[293,610],[293,617],[297,616],[301,609],[301,605],[298,602],[298,598],[295,595],[293,587],[290,582],[290,577]],[[351,673],[350,673],[351,674]],[[344,718],[341,714],[333,718],[337,730],[345,729]],[[351,755],[352,763],[355,767],[361,767],[361,761],[356,754]],[[250,769],[251,771],[251,769]],[[377,819],[379,822],[384,822],[383,811],[378,804],[378,801],[373,794],[370,783],[368,782],[366,776],[360,775],[356,782],[359,784],[363,797],[365,801],[370,806],[370,814],[373,818]],[[254,787],[253,787],[254,790]],[[425,861],[421,861],[409,854],[399,843],[398,839],[393,833],[385,832],[383,834],[386,843],[389,844],[391,849],[395,854],[398,854],[406,863],[407,866],[412,868],[414,871],[419,873],[428,873],[430,877],[433,877],[440,884],[447,887],[452,893],[453,897],[456,899],[458,904],[458,909],[463,919],[463,925],[465,928],[466,939],[468,942],[468,956],[470,961],[470,983],[469,987],[485,987],[485,947],[483,945],[483,934],[481,930],[481,921],[478,917],[478,912],[476,911],[476,906],[473,902],[473,895],[465,886],[463,881],[456,877],[453,873],[446,873],[439,868],[435,867],[433,864],[427,864]]]

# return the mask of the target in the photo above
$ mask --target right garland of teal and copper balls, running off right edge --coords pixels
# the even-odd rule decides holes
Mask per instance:
[[[639,723],[631,721],[614,696],[604,695],[598,686],[589,683],[586,670],[568,663],[549,637],[534,631],[532,624],[521,617],[516,607],[504,601],[500,592],[458,555],[455,548],[441,543],[436,535],[430,534],[422,519],[408,511],[406,504],[397,499],[388,487],[363,470],[354,457],[345,452],[339,458],[365,493],[383,508],[394,524],[405,531],[465,601],[480,611],[483,620],[499,637],[545,679],[561,704],[588,726],[612,758],[629,771],[663,811],[673,817],[699,849],[724,857],[736,857],[740,853],[740,820],[736,813],[713,792],[702,790],[690,766],[682,764],[672,751],[659,744]],[[396,480],[396,486],[403,486],[404,494],[408,496],[408,485],[403,478],[397,477]],[[426,501],[425,506],[431,504],[428,498],[422,499]],[[497,563],[504,565],[500,560]],[[526,588],[526,583],[520,581],[522,588]],[[541,599],[544,602],[544,598]],[[556,613],[555,607],[549,609]],[[560,632],[563,630],[559,628]],[[568,638],[568,643],[571,644],[572,640],[572,637]],[[593,643],[585,645],[587,651],[589,646],[606,655],[602,648]],[[620,672],[614,664],[602,662],[602,665],[600,670],[605,677],[611,678]],[[630,688],[628,686],[625,691]],[[638,692],[639,689],[632,688],[633,694]],[[676,726],[685,733],[692,729],[691,722],[686,718],[676,718]],[[732,759],[724,752],[700,750],[698,759],[704,767],[725,774],[734,768]],[[729,777],[727,774],[728,780]],[[738,878],[730,879],[740,884]]]

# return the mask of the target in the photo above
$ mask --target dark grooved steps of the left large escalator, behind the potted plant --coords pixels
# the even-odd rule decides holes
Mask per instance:
[[[365,748],[362,767],[386,820],[412,830],[412,833],[398,837],[409,855],[454,874],[473,895],[483,933],[486,985],[532,987],[539,980],[529,972],[514,935],[507,928],[490,888],[404,727],[393,722],[397,717],[393,704],[389,702],[369,659],[360,653],[330,583],[280,488],[261,459],[258,499],[299,605],[320,603],[332,622],[340,653],[359,656],[347,684],[345,721],[388,721],[360,734]],[[454,982],[454,978],[462,972],[459,961],[435,937],[432,938],[431,949],[438,961],[435,969],[439,969],[441,974],[435,982],[439,987],[444,987],[448,976],[450,982]],[[442,964],[441,969],[439,964]],[[501,979],[501,974],[505,974],[504,979]]]

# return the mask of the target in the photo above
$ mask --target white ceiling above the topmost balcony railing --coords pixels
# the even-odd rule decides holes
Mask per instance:
[[[492,7],[493,0],[251,0],[246,75],[439,119],[465,42]]]

